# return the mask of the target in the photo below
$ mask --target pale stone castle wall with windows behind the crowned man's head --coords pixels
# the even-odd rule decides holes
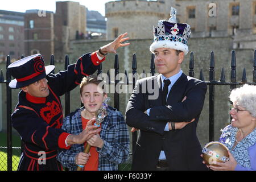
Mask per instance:
[[[214,3],[215,7],[209,6]],[[232,15],[232,6],[239,5],[239,15]],[[177,18],[180,23],[188,23],[193,28],[196,37],[209,36],[209,27],[216,27],[216,36],[232,35],[232,26],[247,31],[255,27],[254,0],[168,0],[168,1],[111,1],[105,4],[108,38],[112,39],[112,28],[117,27],[121,32],[137,32],[139,28],[149,27],[143,35],[134,35],[135,39],[151,37],[152,26],[156,26],[159,19],[170,18],[171,6],[177,9]],[[195,18],[188,17],[188,9],[195,9]],[[209,16],[209,10],[216,10],[216,16]],[[158,18],[159,15],[161,18]],[[147,19],[145,19],[147,16]],[[150,18],[150,19],[148,19]],[[140,30],[141,31],[141,30]],[[255,34],[255,32],[254,32]],[[212,34],[214,36],[215,34]],[[247,35],[247,33],[243,33]],[[255,39],[255,36],[254,36]]]

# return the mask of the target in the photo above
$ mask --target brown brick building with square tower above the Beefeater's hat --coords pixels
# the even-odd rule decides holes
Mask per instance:
[[[86,32],[85,6],[78,2],[56,2],[56,13],[27,10],[24,21],[26,55],[41,53],[48,63],[51,55],[64,60],[69,42]]]

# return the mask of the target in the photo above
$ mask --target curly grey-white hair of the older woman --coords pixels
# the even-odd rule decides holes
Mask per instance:
[[[256,118],[256,86],[245,84],[232,90],[229,98],[230,101],[237,102],[237,105],[244,107]]]

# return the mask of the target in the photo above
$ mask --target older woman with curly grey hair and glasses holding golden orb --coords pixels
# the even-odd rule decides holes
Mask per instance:
[[[212,170],[256,170],[256,86],[232,90],[231,125],[225,127],[220,142],[229,148],[229,162],[217,163]]]

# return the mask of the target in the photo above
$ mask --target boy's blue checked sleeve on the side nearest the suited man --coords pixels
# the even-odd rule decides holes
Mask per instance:
[[[104,140],[104,146],[97,148],[102,158],[106,158],[112,163],[120,164],[127,160],[129,155],[129,133],[123,115],[119,111],[114,111],[111,118],[112,123],[108,127],[108,135]]]

